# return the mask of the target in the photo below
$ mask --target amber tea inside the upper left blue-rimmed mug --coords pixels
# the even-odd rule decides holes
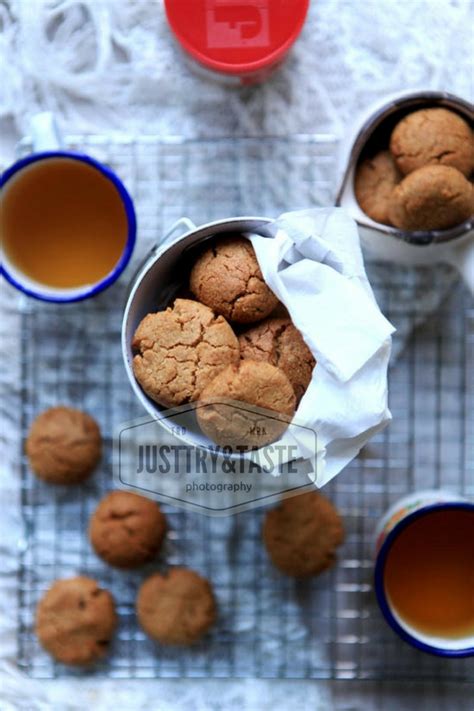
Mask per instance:
[[[127,215],[113,183],[86,163],[48,158],[2,190],[0,233],[7,259],[36,282],[73,288],[101,281],[127,241]]]

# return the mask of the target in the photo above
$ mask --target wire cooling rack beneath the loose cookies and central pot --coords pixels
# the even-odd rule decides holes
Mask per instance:
[[[140,224],[135,261],[183,215],[197,223],[239,214],[276,216],[332,200],[330,136],[207,142],[78,136],[67,143],[110,163],[128,184]],[[28,150],[27,142],[23,148]],[[263,511],[216,519],[164,506],[170,533],[155,565],[124,573],[93,554],[87,525],[100,497],[112,488],[114,426],[143,414],[120,354],[121,311],[132,273],[133,267],[89,302],[20,303],[25,530],[18,581],[20,666],[37,678],[85,673],[52,661],[33,632],[36,604],[51,582],[82,573],[113,592],[120,616],[110,656],[89,674],[474,681],[472,660],[439,660],[401,642],[382,620],[372,591],[373,532],[391,503],[421,487],[474,496],[473,303],[462,287],[452,289],[433,313],[440,292],[427,298],[431,282],[446,289],[452,275],[443,269],[370,266],[379,303],[401,332],[400,355],[390,372],[394,419],[325,489],[341,510],[347,533],[336,567],[295,582],[267,560]],[[99,470],[71,489],[35,479],[23,454],[32,419],[58,403],[91,412],[105,440]],[[189,650],[155,645],[135,617],[140,581],[168,564],[188,565],[207,576],[218,599],[217,625]]]

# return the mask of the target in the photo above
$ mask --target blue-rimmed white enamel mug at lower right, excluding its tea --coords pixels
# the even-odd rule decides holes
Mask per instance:
[[[474,657],[474,631],[471,626],[465,634],[455,636],[422,631],[404,619],[401,612],[396,609],[388,591],[387,563],[395,543],[412,524],[440,512],[455,512],[456,515],[460,512],[462,515],[467,514],[469,529],[472,518],[472,537],[474,539],[474,502],[452,492],[435,489],[415,492],[399,499],[381,518],[375,531],[375,594],[382,614],[390,627],[412,647],[439,657]],[[446,531],[446,535],[449,535],[448,531]],[[436,555],[437,551],[433,546],[433,556]],[[466,581],[470,580],[469,576],[474,579],[474,560],[472,565],[472,570],[466,570]],[[474,618],[474,587],[472,589],[472,608]],[[442,614],[441,611],[440,614]]]

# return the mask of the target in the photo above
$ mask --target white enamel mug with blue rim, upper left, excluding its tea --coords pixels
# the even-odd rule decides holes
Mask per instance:
[[[32,121],[32,142],[34,152],[26,157],[20,158],[16,163],[5,170],[0,178],[0,190],[3,196],[8,195],[7,191],[15,181],[23,177],[26,171],[38,163],[57,159],[68,161],[78,161],[89,169],[97,171],[102,178],[105,178],[113,187],[117,195],[118,209],[123,210],[123,222],[125,225],[125,239],[123,239],[123,249],[112,268],[99,280],[91,283],[81,284],[74,287],[57,287],[42,283],[22,271],[21,267],[9,256],[2,246],[0,274],[13,286],[35,299],[50,301],[55,303],[70,303],[82,301],[100,293],[113,284],[124,271],[130,261],[136,240],[136,216],[132,199],[120,178],[106,165],[100,163],[89,155],[73,151],[63,150],[62,141],[53,121],[51,114],[38,114]],[[2,233],[5,225],[2,226]],[[2,242],[5,235],[2,235]],[[65,231],[65,239],[68,238]],[[44,239],[44,237],[43,237]]]

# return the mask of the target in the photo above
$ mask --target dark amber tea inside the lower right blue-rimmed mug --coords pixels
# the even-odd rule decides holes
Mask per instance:
[[[385,567],[393,610],[427,635],[474,635],[474,514],[436,511],[395,540]]]

